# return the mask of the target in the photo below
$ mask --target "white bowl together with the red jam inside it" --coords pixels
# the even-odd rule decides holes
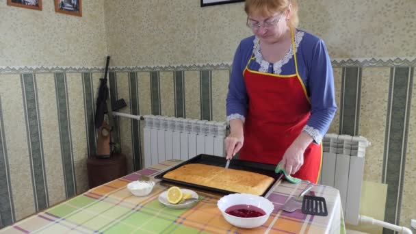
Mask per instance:
[[[223,196],[217,206],[227,222],[244,229],[263,225],[274,209],[270,200],[252,194]]]

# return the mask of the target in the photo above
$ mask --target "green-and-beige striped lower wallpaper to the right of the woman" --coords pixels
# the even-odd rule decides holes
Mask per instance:
[[[374,77],[374,74],[369,72],[365,73],[365,75],[375,78],[372,79],[372,82],[367,81],[366,76],[363,77],[365,68],[347,67],[341,69],[338,133],[363,135],[372,142],[365,161],[365,179],[369,180],[369,177],[373,177],[376,179],[375,182],[388,185],[385,221],[408,226],[411,218],[416,215],[415,211],[412,211],[412,216],[404,215],[402,219],[400,219],[400,214],[402,209],[406,209],[404,213],[409,213],[407,207],[415,207],[411,195],[414,185],[408,183],[406,187],[404,184],[405,174],[411,174],[413,171],[409,170],[410,168],[406,170],[406,157],[413,157],[413,160],[415,158],[415,155],[406,153],[408,146],[415,147],[415,145],[408,145],[409,140],[412,142],[416,140],[416,138],[408,139],[415,68],[370,68],[376,74],[385,73],[380,74],[380,77]],[[383,79],[383,77],[389,77],[389,79]],[[363,82],[366,82],[365,86]],[[374,92],[378,94],[374,94]],[[374,94],[374,96],[367,96],[369,94]],[[380,97],[380,95],[384,96]],[[378,98],[381,100],[377,100]],[[365,103],[361,103],[361,101],[365,101]],[[361,111],[366,114],[360,116]],[[413,110],[413,112],[415,111]],[[372,118],[373,116],[376,118]],[[372,125],[378,126],[369,129],[368,127]],[[411,128],[413,129],[413,127],[415,126]],[[361,131],[361,129],[365,129],[365,131]],[[381,137],[378,139],[380,142],[373,141],[372,136],[376,135],[379,135],[377,138]],[[374,150],[378,151],[376,155],[372,154]],[[380,164],[380,162],[382,163]],[[374,166],[374,164],[378,166]],[[373,173],[378,177],[372,175]],[[393,232],[384,230],[383,233]]]

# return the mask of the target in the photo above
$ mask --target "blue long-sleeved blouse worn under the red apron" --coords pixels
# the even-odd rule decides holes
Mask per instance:
[[[296,73],[293,49],[287,52],[283,60],[270,64],[263,60],[258,38],[250,36],[242,40],[235,52],[229,92],[226,98],[227,120],[240,118],[244,120],[248,108],[248,95],[244,83],[243,71],[248,60],[255,55],[255,60],[250,62],[250,70],[259,70],[265,73],[278,75],[293,75]],[[337,110],[335,103],[333,69],[324,41],[317,36],[296,29],[295,35],[296,59],[298,72],[311,100],[311,116],[303,131],[307,132],[315,143],[319,144],[328,131],[330,122]]]

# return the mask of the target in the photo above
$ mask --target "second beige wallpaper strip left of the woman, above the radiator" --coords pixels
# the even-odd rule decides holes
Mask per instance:
[[[185,115],[186,118],[200,119],[200,85],[197,71],[185,71]]]

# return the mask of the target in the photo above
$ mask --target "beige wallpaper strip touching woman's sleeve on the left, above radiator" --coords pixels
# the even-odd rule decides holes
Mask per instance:
[[[226,94],[229,83],[229,70],[212,71],[212,117],[215,121],[226,120]]]

